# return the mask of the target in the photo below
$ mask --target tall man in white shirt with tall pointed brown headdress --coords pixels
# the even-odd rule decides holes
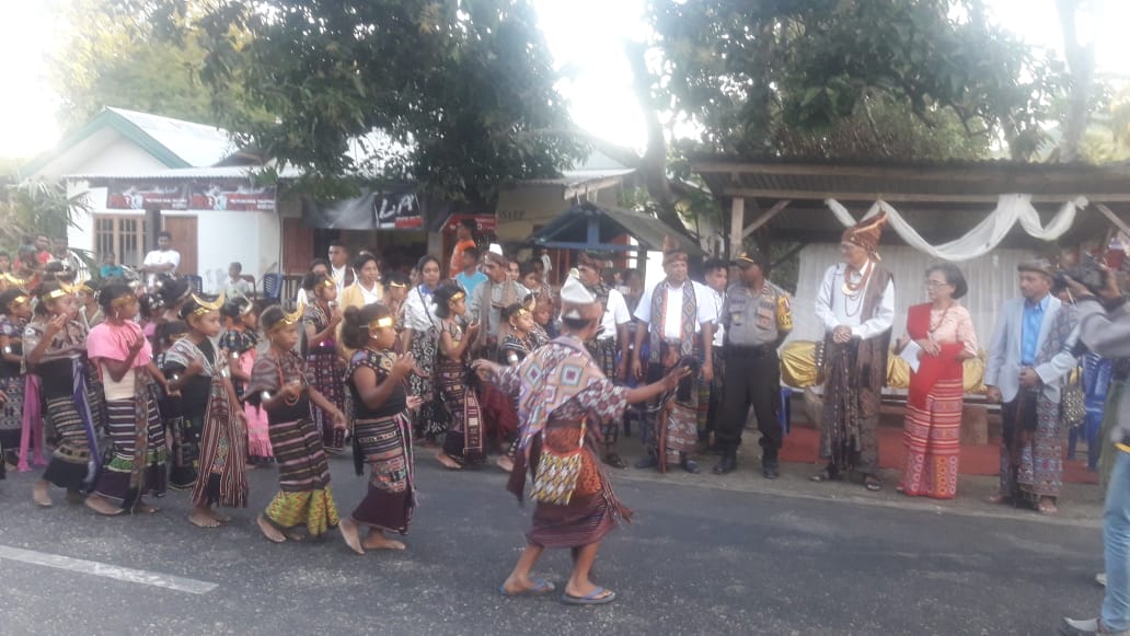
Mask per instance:
[[[887,349],[895,317],[895,281],[879,264],[886,214],[844,230],[842,262],[824,273],[816,317],[824,324],[824,413],[820,459],[812,481],[858,473],[868,490],[883,488],[879,472],[879,404],[887,380]]]

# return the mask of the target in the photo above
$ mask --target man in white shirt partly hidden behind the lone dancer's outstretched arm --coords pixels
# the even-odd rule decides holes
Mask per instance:
[[[577,256],[577,279],[605,308],[600,319],[600,330],[597,331],[596,338],[585,342],[584,346],[600,365],[606,377],[623,383],[627,380],[628,323],[632,322],[632,314],[628,313],[628,304],[624,299],[624,295],[616,288],[605,285],[601,279],[607,264],[608,261],[603,255],[592,252],[581,252]],[[616,359],[617,343],[619,345],[619,361]],[[605,441],[605,463],[612,468],[627,468],[619,453],[616,452],[616,442],[620,435],[619,420],[601,425],[600,432]]]

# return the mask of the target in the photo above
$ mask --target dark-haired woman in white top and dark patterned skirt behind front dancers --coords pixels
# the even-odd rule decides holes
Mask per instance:
[[[440,435],[447,432],[446,418],[437,412],[434,403],[433,369],[436,345],[440,340],[440,319],[435,315],[433,295],[440,287],[440,261],[425,255],[416,267],[420,282],[405,299],[405,329],[400,332],[401,350],[412,355],[418,373],[408,376],[408,394],[424,403],[414,422],[417,439],[435,446]]]

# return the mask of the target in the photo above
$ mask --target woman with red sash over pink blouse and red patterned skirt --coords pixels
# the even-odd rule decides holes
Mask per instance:
[[[962,439],[962,363],[977,355],[970,312],[957,303],[968,286],[962,270],[939,263],[925,271],[929,303],[906,312],[906,334],[898,350],[914,343],[919,368],[911,373],[906,398],[906,447],[898,490],[910,496],[951,499],[957,495],[957,455]]]

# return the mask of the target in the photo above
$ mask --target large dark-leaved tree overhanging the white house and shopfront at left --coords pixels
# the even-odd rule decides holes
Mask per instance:
[[[502,182],[556,176],[580,155],[567,134],[529,134],[568,117],[525,0],[124,5],[177,41],[199,37],[214,112],[241,141],[303,168],[307,188],[408,177],[489,206]],[[226,108],[232,82],[273,119]],[[391,150],[366,142],[374,136]],[[366,165],[374,150],[383,160]]]

